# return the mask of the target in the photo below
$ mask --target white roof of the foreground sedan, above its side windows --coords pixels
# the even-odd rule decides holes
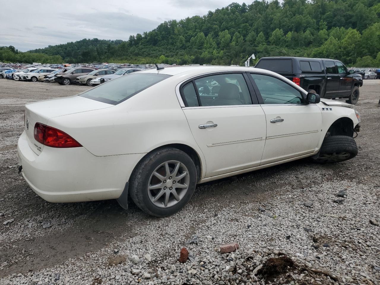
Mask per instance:
[[[226,71],[259,71],[259,72],[265,72],[268,74],[274,74],[277,75],[277,73],[264,70],[261,68],[253,68],[253,67],[230,67],[230,66],[180,66],[180,67],[167,67],[160,70],[157,70],[155,68],[152,69],[146,69],[141,70],[138,73],[157,73],[157,74],[167,74],[167,75],[178,75],[186,73],[190,76],[196,76],[197,74],[205,74],[205,73],[214,73],[214,72],[226,72]]]

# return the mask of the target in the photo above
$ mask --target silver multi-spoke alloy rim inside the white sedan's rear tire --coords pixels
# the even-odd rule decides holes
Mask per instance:
[[[150,175],[147,187],[149,199],[157,207],[174,206],[185,196],[189,182],[190,175],[183,163],[165,161]]]

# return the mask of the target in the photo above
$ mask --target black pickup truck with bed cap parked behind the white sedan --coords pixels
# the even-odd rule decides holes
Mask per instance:
[[[361,75],[334,59],[262,57],[255,68],[279,73],[307,91],[314,90],[321,98],[347,98],[350,104],[356,104],[359,86],[363,85]]]

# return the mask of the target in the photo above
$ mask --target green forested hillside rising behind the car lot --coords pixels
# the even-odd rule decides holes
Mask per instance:
[[[254,53],[256,58],[326,57],[380,67],[380,0],[232,3],[202,17],[163,22],[128,41],[84,39],[30,52],[72,63],[242,65]]]

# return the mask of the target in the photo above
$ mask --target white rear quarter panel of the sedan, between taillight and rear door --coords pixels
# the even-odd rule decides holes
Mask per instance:
[[[176,83],[168,78],[108,110],[55,117],[47,124],[68,133],[96,156],[144,154],[180,143],[192,147],[204,164],[176,97]]]

